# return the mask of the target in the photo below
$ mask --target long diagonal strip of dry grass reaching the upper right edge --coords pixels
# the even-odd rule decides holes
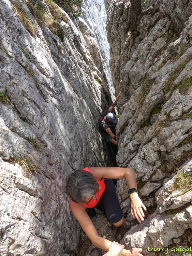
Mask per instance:
[[[163,88],[163,93],[167,94],[173,82],[178,77],[178,75],[181,73],[181,71],[186,67],[187,63],[192,59],[192,55],[187,56],[187,58],[179,65],[176,69],[174,69],[173,73],[169,76],[168,82],[165,84]]]

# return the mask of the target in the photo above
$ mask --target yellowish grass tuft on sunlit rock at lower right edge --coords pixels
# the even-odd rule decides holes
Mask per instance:
[[[176,189],[185,189],[185,192],[188,192],[192,189],[192,173],[191,172],[184,174],[182,171],[180,171],[177,174],[177,177],[171,187],[172,191]]]

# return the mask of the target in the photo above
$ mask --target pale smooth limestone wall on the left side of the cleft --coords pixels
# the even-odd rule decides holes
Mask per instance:
[[[28,15],[36,36],[13,4]],[[2,256],[76,254],[80,227],[65,194],[66,176],[86,166],[113,165],[98,124],[113,100],[104,57],[85,21],[60,12],[62,41],[44,23],[39,26],[23,0],[0,1],[0,92],[8,99],[0,102]],[[80,28],[85,39],[93,38],[89,44]],[[34,139],[38,151],[29,142]],[[26,157],[39,172],[31,179],[14,163]]]

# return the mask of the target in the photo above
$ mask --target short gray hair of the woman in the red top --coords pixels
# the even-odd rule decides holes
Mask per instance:
[[[99,184],[87,171],[77,170],[67,176],[66,193],[75,203],[84,203],[87,196],[95,196]]]

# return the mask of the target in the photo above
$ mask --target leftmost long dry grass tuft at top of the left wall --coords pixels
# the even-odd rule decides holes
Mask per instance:
[[[11,0],[11,3],[14,6],[17,18],[23,24],[24,28],[26,28],[29,31],[32,37],[35,38],[37,35],[37,28],[33,23],[33,20],[27,15],[27,13],[22,9],[22,7],[17,1]]]

